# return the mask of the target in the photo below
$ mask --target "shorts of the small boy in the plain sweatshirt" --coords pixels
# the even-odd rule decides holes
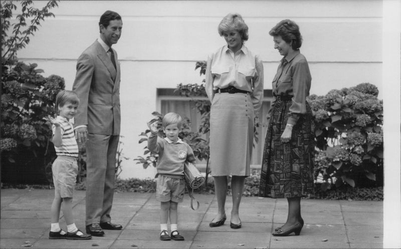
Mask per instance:
[[[158,201],[182,202],[185,192],[184,178],[172,178],[159,174],[156,183],[156,199]]]

